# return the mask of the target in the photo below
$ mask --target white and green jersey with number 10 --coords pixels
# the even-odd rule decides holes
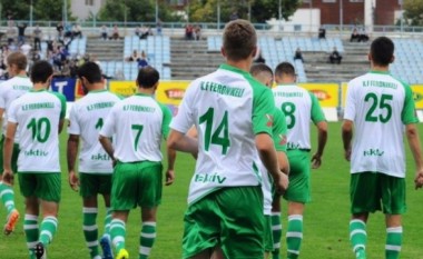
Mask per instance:
[[[61,93],[30,90],[14,100],[8,121],[18,123],[19,172],[60,172],[59,121],[65,119]]]

